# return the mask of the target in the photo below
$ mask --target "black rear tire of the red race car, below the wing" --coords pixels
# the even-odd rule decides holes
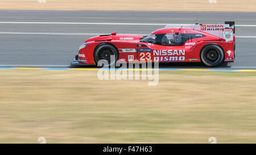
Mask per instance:
[[[220,65],[224,61],[224,51],[216,44],[210,44],[203,48],[200,54],[201,61],[209,67]]]

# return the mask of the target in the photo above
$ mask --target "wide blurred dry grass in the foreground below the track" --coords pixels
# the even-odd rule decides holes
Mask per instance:
[[[0,143],[256,143],[256,72],[0,70]]]

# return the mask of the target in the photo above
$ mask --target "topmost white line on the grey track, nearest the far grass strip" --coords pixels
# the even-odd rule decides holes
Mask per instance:
[[[152,25],[166,26],[168,23],[72,23],[72,22],[0,22],[0,24],[89,24],[89,25]],[[169,23],[171,24],[171,23]],[[172,24],[172,25],[190,25],[190,24]],[[256,27],[256,25],[236,25],[238,27]]]

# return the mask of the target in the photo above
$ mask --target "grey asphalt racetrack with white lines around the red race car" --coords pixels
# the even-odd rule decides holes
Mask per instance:
[[[199,15],[197,21],[197,15]],[[218,68],[256,69],[256,12],[0,11],[0,67],[67,67],[89,37],[148,34],[165,24],[236,22],[236,62]],[[91,67],[91,66],[90,66]],[[162,64],[162,68],[207,68]]]

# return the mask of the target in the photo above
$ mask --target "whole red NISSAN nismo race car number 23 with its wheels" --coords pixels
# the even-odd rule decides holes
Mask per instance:
[[[113,65],[110,55],[114,55],[115,62],[203,62],[213,67],[234,62],[234,28],[234,22],[167,25],[147,36],[113,32],[91,37],[80,46],[72,65],[96,65],[99,60]]]

